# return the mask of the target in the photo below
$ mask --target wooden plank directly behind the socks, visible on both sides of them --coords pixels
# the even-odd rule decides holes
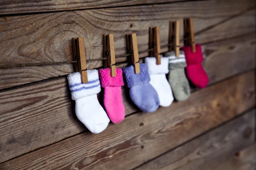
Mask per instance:
[[[209,84],[255,68],[254,37],[202,46]],[[0,145],[4,148],[0,162],[86,130],[76,119],[66,78],[0,94]],[[126,115],[139,111],[129,99],[128,90],[123,89],[122,96]]]

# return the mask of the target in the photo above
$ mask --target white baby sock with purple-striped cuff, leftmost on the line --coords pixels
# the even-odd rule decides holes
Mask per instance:
[[[79,72],[67,76],[72,99],[76,101],[76,116],[92,133],[100,133],[109,123],[108,116],[99,104],[100,92],[97,70],[87,70],[88,82],[81,83]]]

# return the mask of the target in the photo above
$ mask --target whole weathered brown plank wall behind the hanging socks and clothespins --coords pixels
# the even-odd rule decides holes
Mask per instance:
[[[255,8],[254,0],[0,0],[0,170],[254,170]],[[153,113],[122,88],[125,120],[90,133],[67,86],[71,38],[84,37],[92,69],[102,67],[102,34],[114,34],[123,68],[125,34],[137,33],[143,62],[148,27],[160,27],[166,52],[169,21],[184,17],[194,19],[207,88]],[[37,65],[12,66],[20,63]]]

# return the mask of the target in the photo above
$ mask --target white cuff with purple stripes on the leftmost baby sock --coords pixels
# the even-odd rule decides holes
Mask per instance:
[[[67,76],[71,97],[73,100],[81,99],[86,96],[98,94],[100,92],[98,71],[87,70],[88,82],[82,84],[79,72],[71,73]]]

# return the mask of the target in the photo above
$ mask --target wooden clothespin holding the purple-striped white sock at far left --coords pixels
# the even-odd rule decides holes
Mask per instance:
[[[72,38],[73,45],[73,57],[77,61],[75,68],[76,71],[79,71],[81,74],[81,82],[87,83],[87,68],[86,68],[86,59],[85,59],[85,49],[84,49],[84,38]]]

